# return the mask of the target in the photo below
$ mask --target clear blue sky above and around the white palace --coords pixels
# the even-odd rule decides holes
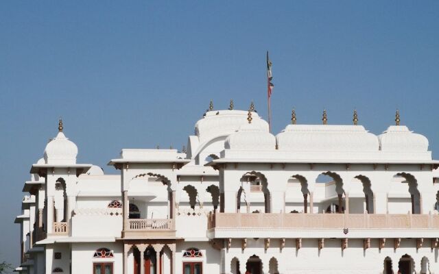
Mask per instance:
[[[78,162],[103,166],[121,148],[181,148],[215,109],[289,123],[401,121],[439,158],[439,1],[1,1],[0,262],[19,261],[21,189],[64,133]]]

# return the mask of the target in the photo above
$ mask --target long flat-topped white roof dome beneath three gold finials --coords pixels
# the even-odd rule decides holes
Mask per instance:
[[[379,151],[362,125],[287,125],[276,140],[283,151]]]

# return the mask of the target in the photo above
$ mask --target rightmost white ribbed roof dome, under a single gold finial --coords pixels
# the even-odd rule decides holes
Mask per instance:
[[[428,151],[428,139],[423,135],[411,132],[405,125],[391,125],[378,138],[382,151]]]

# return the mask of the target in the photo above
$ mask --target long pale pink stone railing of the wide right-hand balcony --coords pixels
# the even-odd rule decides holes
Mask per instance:
[[[438,214],[211,213],[208,228],[439,229]]]

